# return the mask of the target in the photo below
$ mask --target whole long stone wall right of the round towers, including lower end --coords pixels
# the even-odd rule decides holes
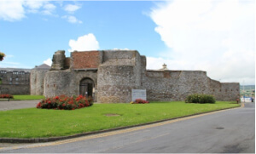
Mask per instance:
[[[216,100],[239,98],[239,83],[219,83],[205,71],[147,71],[143,77],[148,100],[185,100],[189,94],[212,94]]]

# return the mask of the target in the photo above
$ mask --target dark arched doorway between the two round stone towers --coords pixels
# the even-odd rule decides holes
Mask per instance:
[[[83,78],[79,85],[79,94],[86,97],[93,96],[94,83],[90,78]]]

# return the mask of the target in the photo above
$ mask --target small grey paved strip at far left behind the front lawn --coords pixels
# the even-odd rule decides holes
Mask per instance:
[[[0,111],[36,107],[40,100],[0,100]]]

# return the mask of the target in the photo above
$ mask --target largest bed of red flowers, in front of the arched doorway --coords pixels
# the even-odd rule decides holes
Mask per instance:
[[[67,97],[66,95],[61,95],[41,100],[38,103],[37,108],[55,110],[75,110],[92,105],[92,99],[87,99],[83,95],[79,95],[78,97]]]

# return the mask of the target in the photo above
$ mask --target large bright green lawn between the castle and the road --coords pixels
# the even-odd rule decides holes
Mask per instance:
[[[239,106],[234,102],[185,104],[152,102],[150,104],[95,104],[73,110],[22,109],[0,111],[0,137],[33,138],[67,136],[96,130],[154,122],[172,117]],[[119,114],[107,117],[105,114]]]

